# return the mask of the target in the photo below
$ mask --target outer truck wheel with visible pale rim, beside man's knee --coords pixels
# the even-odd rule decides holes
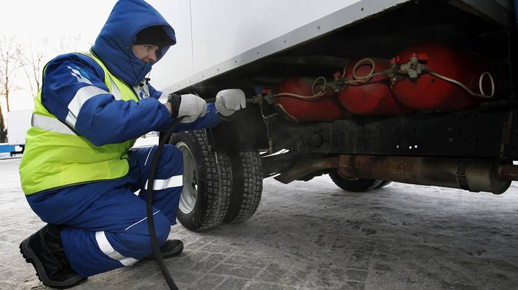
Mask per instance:
[[[232,173],[228,158],[210,153],[205,130],[174,134],[169,140],[184,160],[178,220],[193,231],[219,225],[230,204]]]

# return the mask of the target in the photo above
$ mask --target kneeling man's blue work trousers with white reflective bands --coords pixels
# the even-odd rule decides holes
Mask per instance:
[[[130,150],[130,171],[123,178],[28,196],[29,205],[43,221],[67,226],[61,232],[64,252],[78,275],[88,277],[130,266],[152,252],[146,189],[156,149]],[[182,161],[182,153],[175,146],[164,146],[153,186],[153,218],[160,244],[176,223]]]

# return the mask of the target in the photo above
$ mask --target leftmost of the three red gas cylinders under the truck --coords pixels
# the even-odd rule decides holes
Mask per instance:
[[[295,121],[335,121],[348,116],[340,105],[340,101],[334,95],[332,89],[313,99],[297,99],[295,96],[283,96],[283,93],[311,96],[311,78],[291,78],[282,82],[277,87],[275,106],[286,117]],[[316,86],[318,87],[318,85]],[[318,92],[318,89],[315,89]]]

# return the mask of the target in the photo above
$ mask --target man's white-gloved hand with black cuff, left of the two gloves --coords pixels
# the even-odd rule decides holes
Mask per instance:
[[[170,94],[167,102],[171,104],[171,116],[183,117],[180,121],[182,123],[192,123],[207,114],[205,100],[193,94],[182,94],[182,96]]]

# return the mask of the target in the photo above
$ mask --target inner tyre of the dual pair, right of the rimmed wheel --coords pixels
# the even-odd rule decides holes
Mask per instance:
[[[257,152],[218,153],[227,155],[232,167],[232,197],[224,223],[239,223],[257,210],[263,191],[261,156]]]

